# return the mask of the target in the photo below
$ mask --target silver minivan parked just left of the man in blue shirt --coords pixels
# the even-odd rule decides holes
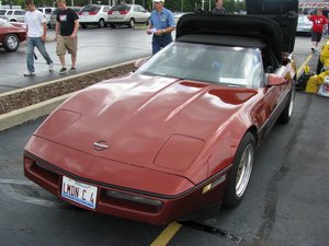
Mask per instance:
[[[134,28],[135,23],[148,23],[150,13],[138,4],[116,4],[109,11],[109,24],[112,28],[115,25],[126,24]]]

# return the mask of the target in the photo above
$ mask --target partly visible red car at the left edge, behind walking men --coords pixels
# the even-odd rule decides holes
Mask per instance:
[[[26,30],[0,17],[0,46],[5,51],[16,51],[20,43],[26,40]]]

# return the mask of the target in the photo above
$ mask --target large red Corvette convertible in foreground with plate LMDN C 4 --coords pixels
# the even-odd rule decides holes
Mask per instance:
[[[25,175],[73,206],[159,225],[238,204],[256,148],[290,121],[296,77],[298,1],[246,5],[183,15],[135,72],[63,103],[27,142]]]

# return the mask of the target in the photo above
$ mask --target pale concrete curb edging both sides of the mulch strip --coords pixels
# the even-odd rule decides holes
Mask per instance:
[[[48,82],[45,82],[45,83],[39,83],[39,84],[36,84],[36,85],[19,89],[19,90],[15,90],[15,91],[5,92],[5,93],[0,94],[0,97],[5,96],[5,95],[15,94],[18,92],[27,91],[27,90],[31,90],[31,89],[42,87],[44,85],[55,84],[55,83],[60,82],[60,81],[66,81],[66,80],[70,80],[70,79],[73,79],[73,78],[83,77],[83,75],[87,75],[87,74],[104,71],[104,70],[107,70],[107,69],[113,69],[113,68],[117,68],[117,67],[121,67],[121,66],[131,65],[131,63],[134,63],[135,61],[136,60],[127,61],[127,62],[123,62],[123,63],[120,63],[120,65],[110,66],[110,67],[106,67],[106,68],[97,69],[97,70],[92,70],[92,71],[89,71],[89,72],[83,72],[83,73],[75,74],[75,75],[71,75],[71,77],[66,77],[66,78],[63,78],[63,79],[48,81]],[[12,128],[14,126],[21,125],[21,124],[30,121],[30,120],[37,119],[42,116],[49,115],[59,104],[61,104],[66,98],[68,98],[69,96],[71,96],[75,93],[76,92],[72,92],[72,93],[69,93],[69,94],[66,94],[66,95],[61,95],[61,96],[58,96],[58,97],[54,97],[52,99],[44,101],[44,102],[38,103],[38,104],[34,104],[34,105],[31,105],[31,106],[27,106],[27,107],[24,107],[24,108],[21,108],[21,109],[18,109],[18,110],[13,110],[13,112],[0,115],[0,131],[3,131],[5,129]]]

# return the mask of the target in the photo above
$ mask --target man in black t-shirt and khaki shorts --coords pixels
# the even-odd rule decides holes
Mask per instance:
[[[78,30],[79,30],[79,17],[76,11],[67,8],[66,0],[57,1],[59,11],[56,16],[56,40],[57,47],[56,52],[59,57],[61,69],[60,74],[67,72],[65,55],[66,51],[71,55],[71,68],[69,72],[77,70],[77,51],[78,51]]]

